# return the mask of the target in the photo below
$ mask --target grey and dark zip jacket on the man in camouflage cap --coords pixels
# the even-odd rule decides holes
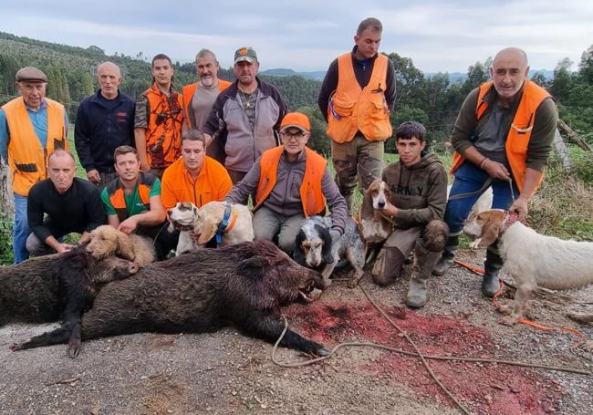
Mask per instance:
[[[286,102],[272,84],[257,78],[255,126],[251,130],[239,96],[238,80],[214,102],[203,132],[213,137],[216,160],[228,170],[249,171],[265,150],[280,145],[277,131],[286,114]],[[221,160],[222,159],[222,160]]]

